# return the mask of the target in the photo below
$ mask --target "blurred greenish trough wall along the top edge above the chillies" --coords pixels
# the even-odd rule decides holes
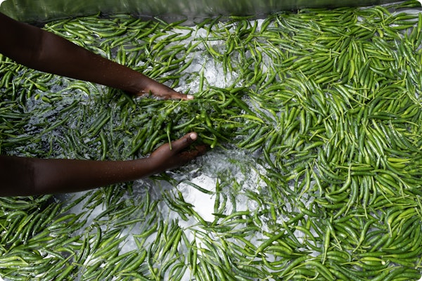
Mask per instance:
[[[1,1],[0,1],[1,2]],[[132,13],[159,17],[166,21],[187,18],[191,22],[217,15],[255,15],[263,17],[275,11],[299,8],[332,8],[339,6],[371,6],[397,2],[395,0],[6,0],[0,12],[16,20],[46,22],[58,18],[91,15]]]

